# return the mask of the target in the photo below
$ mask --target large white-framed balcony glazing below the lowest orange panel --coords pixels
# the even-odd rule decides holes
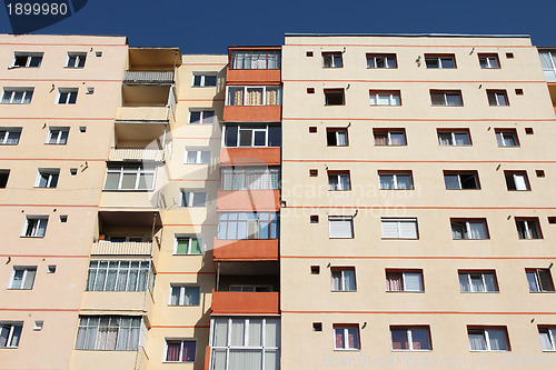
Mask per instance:
[[[212,317],[212,369],[279,370],[280,319]]]

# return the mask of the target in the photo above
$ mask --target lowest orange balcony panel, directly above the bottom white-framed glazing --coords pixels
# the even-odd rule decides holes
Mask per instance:
[[[212,291],[212,314],[278,314],[278,292]]]

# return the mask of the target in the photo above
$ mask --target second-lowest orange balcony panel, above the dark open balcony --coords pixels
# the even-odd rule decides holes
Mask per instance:
[[[220,240],[215,238],[215,261],[278,261],[279,239]]]

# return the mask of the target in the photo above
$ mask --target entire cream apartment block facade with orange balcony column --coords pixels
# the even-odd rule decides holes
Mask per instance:
[[[554,368],[553,49],[1,38],[0,369]]]

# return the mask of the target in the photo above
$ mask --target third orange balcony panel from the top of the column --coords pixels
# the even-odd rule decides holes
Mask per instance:
[[[280,166],[281,148],[220,148],[222,166]]]

